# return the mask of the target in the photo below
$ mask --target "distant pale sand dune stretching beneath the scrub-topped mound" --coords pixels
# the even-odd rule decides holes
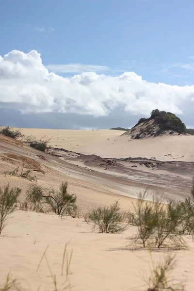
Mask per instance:
[[[194,162],[194,136],[162,136],[130,140],[119,130],[22,129],[26,135],[50,138],[52,147],[107,158],[146,157]]]

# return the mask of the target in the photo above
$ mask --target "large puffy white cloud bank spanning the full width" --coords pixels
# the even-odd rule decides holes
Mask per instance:
[[[85,70],[93,68],[83,66]],[[156,108],[181,114],[183,109],[191,108],[192,100],[194,85],[150,83],[134,72],[118,77],[83,72],[63,78],[49,73],[35,50],[29,53],[13,50],[0,57],[0,108],[4,109],[105,116],[122,108],[149,116]]]

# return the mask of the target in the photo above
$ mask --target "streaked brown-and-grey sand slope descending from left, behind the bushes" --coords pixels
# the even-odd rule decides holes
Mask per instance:
[[[21,169],[23,163],[44,187],[58,188],[62,181],[67,180],[69,191],[78,195],[79,203],[84,208],[109,205],[117,199],[120,199],[123,207],[128,208],[128,197],[137,198],[139,192],[145,189],[159,192],[164,199],[180,199],[190,195],[191,173],[188,173],[188,177],[165,171],[161,174],[160,171],[150,171],[146,166],[135,170],[130,164],[118,167],[113,164],[105,168],[96,164],[90,168],[82,162],[74,161],[73,164],[0,136],[0,184],[4,185],[8,180],[13,183],[16,177],[4,177],[3,173],[17,166]],[[24,183],[24,179],[17,178],[15,182]]]

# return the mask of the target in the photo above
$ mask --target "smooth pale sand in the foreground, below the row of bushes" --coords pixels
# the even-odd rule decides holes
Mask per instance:
[[[62,291],[65,274],[61,275],[65,242],[69,242],[67,253],[72,260],[68,276],[71,291],[146,291],[148,286],[141,275],[150,275],[151,259],[147,250],[130,251],[127,239],[136,232],[129,228],[122,234],[91,233],[92,225],[82,219],[57,215],[16,211],[0,236],[0,284],[10,272],[20,284],[19,290],[55,290],[49,268],[42,260],[46,256],[53,275],[56,275],[57,290]],[[177,267],[170,275],[174,283],[184,283],[187,291],[194,290],[194,242],[186,238],[190,250],[174,251]],[[153,252],[154,262],[167,253]],[[64,273],[66,272],[66,262]],[[62,287],[63,286],[63,287]],[[182,289],[181,289],[182,290]]]

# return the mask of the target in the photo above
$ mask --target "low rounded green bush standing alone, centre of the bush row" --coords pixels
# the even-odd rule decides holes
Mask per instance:
[[[88,219],[94,223],[93,230],[99,232],[120,233],[126,229],[121,222],[123,221],[123,212],[120,210],[118,201],[110,207],[98,207],[89,212]]]

